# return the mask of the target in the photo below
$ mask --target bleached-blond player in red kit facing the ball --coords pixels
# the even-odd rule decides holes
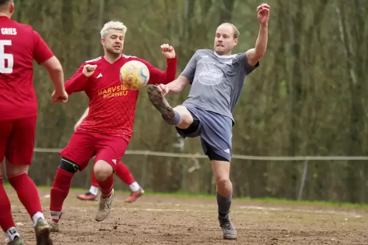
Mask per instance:
[[[80,91],[87,94],[89,112],[60,152],[62,160],[50,193],[47,221],[51,231],[59,230],[63,203],[74,174],[82,171],[92,156],[96,156],[93,171],[101,191],[96,221],[103,221],[111,211],[113,172],[130,142],[139,93],[126,89],[120,82],[123,64],[133,60],[145,63],[150,71],[150,83],[168,83],[175,79],[177,57],[172,46],[161,45],[162,54],[167,58],[163,72],[147,61],[122,55],[126,31],[127,27],[121,22],[106,23],[101,30],[104,55],[84,62],[65,82],[68,94]]]

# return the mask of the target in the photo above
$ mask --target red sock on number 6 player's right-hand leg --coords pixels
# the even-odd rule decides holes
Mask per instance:
[[[36,184],[29,178],[27,173],[8,177],[8,182],[17,192],[19,201],[21,201],[31,218],[37,212],[43,213]]]

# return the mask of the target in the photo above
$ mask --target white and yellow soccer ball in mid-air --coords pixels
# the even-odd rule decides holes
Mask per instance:
[[[150,71],[141,61],[128,61],[120,68],[120,82],[130,90],[139,90],[150,80]]]

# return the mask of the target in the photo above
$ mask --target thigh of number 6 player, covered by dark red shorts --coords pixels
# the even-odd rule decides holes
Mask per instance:
[[[5,157],[9,164],[32,164],[37,116],[17,119],[8,139]],[[9,169],[9,167],[8,167]],[[10,171],[10,170],[9,170]]]

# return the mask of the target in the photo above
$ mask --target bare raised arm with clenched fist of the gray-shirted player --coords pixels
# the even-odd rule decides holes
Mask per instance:
[[[257,8],[258,20],[260,20],[260,32],[256,41],[256,46],[249,49],[245,55],[250,66],[255,66],[260,58],[264,55],[267,48],[268,39],[268,18],[270,15],[270,6],[268,4],[261,4]]]

